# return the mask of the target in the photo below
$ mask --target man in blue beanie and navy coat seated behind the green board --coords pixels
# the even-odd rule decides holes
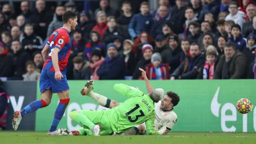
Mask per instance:
[[[106,60],[97,70],[100,80],[124,80],[125,62],[114,43],[108,44]]]

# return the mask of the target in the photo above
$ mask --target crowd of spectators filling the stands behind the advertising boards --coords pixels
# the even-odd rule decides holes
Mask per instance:
[[[9,4],[0,13],[0,77],[39,80],[41,50],[51,33],[62,26],[66,10],[77,11],[79,22],[70,33],[69,80],[254,79],[256,4],[253,0],[158,0],[140,13],[130,1],[120,10],[100,0],[95,12],[78,12],[74,2],[46,10],[44,0]]]

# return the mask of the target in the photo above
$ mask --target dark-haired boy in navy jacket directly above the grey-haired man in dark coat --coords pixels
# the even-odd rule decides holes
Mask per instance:
[[[236,44],[236,50],[240,50],[240,52],[246,48],[247,40],[241,34],[241,27],[238,24],[234,24],[231,27],[231,37],[228,38],[228,41],[234,42]]]

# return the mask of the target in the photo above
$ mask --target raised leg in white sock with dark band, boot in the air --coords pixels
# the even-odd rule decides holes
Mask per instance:
[[[93,80],[89,80],[85,86],[84,89],[81,91],[82,95],[87,95],[90,98],[92,98],[95,102],[97,102],[100,106],[104,106],[106,108],[114,108],[116,106],[119,106],[120,104],[118,104],[115,100],[110,100],[108,99],[106,96],[102,96],[100,94],[97,94],[95,92],[92,91],[94,81]]]

